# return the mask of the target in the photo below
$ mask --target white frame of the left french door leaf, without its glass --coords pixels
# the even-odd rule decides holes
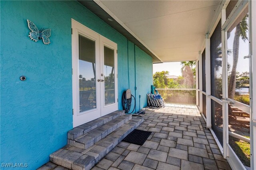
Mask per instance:
[[[84,25],[78,23],[75,20],[72,20],[72,92],[73,92],[73,127],[77,127],[86,123],[88,121],[92,121],[100,117],[100,84],[96,81],[96,108],[88,111],[84,111],[82,113],[79,112],[79,42],[78,36],[83,35],[89,39],[93,39],[95,41],[95,49],[100,47],[100,36],[94,31],[86,28]],[[100,51],[95,50],[95,63],[99,63],[100,61]],[[96,80],[99,78],[100,67],[96,65]],[[98,89],[98,90],[97,90]]]

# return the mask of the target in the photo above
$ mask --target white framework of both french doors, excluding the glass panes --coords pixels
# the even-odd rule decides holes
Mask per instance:
[[[92,31],[81,23],[72,22],[72,99],[73,99],[73,127],[102,117],[118,109],[118,80],[117,80],[117,44],[102,35]],[[95,41],[95,77],[96,77],[96,108],[79,112],[79,42],[78,36],[82,35]],[[115,74],[115,103],[105,106],[104,95],[104,45],[114,49],[114,74]]]

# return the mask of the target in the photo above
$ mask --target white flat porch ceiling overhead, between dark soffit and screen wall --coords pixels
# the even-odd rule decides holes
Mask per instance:
[[[97,4],[103,4],[110,16],[118,18],[162,62],[172,62],[198,58],[221,2],[101,0]]]

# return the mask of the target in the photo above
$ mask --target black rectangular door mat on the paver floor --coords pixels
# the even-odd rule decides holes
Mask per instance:
[[[135,129],[123,141],[142,146],[150,134],[151,132]]]

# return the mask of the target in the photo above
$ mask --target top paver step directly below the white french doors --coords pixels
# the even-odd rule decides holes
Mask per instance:
[[[68,139],[74,140],[75,138],[77,138],[85,133],[88,133],[88,132],[92,131],[93,129],[96,129],[96,128],[100,127],[101,125],[104,125],[104,124],[108,123],[109,121],[112,121],[122,115],[125,115],[124,110],[117,110],[108,115],[100,117],[96,120],[93,120],[93,121],[90,121],[83,125],[80,125],[78,127],[75,127],[74,129],[68,131]]]

